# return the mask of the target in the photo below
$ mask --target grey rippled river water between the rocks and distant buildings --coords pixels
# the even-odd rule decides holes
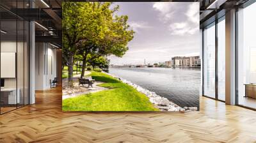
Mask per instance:
[[[180,107],[199,108],[200,68],[109,68],[109,73],[129,80]]]

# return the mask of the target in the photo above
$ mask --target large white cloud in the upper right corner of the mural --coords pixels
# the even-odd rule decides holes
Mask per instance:
[[[172,35],[192,35],[199,31],[199,4],[198,3],[154,3],[154,10],[159,11],[159,19],[168,24]],[[174,22],[174,23],[173,23]]]

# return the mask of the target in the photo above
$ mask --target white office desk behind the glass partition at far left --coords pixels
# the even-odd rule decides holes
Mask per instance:
[[[17,91],[16,97],[16,88],[1,89],[1,102],[8,105],[20,103],[20,89],[18,88]]]

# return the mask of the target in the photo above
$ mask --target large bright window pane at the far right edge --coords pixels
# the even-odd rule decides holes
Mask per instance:
[[[238,104],[256,109],[256,3],[238,11]]]

